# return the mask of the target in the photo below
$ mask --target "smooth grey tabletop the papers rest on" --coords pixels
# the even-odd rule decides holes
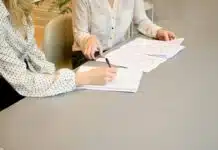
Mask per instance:
[[[166,0],[178,14],[183,12],[183,2],[178,7]],[[169,16],[158,23],[183,36],[187,48],[144,74],[137,93],[87,90],[25,98],[0,112],[0,147],[218,150],[218,19],[208,17],[209,11],[198,15],[203,9],[186,9],[189,14],[184,13],[181,20]],[[195,22],[189,22],[193,17]]]

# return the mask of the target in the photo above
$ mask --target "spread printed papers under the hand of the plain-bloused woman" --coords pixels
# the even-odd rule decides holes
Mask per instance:
[[[108,53],[105,57],[111,64],[150,72],[184,49],[184,46],[181,46],[183,40],[165,42],[137,38]],[[105,59],[99,58],[97,61],[105,62]]]

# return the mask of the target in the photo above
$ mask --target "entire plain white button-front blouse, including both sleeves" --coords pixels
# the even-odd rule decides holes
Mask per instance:
[[[147,17],[144,0],[114,0],[111,7],[108,0],[73,1],[73,50],[83,50],[87,39],[95,35],[103,49],[126,40],[127,31],[134,23],[139,32],[155,37],[159,26]]]

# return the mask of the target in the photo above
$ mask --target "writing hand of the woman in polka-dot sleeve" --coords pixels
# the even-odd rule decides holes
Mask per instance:
[[[115,79],[116,68],[99,67],[86,72],[76,73],[76,85],[104,85]]]

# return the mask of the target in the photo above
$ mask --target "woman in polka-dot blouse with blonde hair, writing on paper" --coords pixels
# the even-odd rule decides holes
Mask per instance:
[[[0,0],[0,110],[23,96],[53,96],[113,80],[114,68],[55,70],[37,48],[31,10],[31,0]]]

